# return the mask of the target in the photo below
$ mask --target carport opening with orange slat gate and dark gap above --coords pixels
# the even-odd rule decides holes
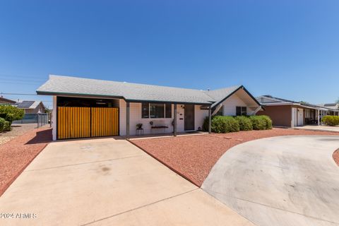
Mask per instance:
[[[119,136],[119,100],[58,97],[57,138]]]

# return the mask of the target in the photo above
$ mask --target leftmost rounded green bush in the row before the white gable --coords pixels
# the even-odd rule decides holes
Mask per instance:
[[[216,116],[212,119],[211,129],[214,133],[230,133],[239,131],[240,126],[234,117]]]

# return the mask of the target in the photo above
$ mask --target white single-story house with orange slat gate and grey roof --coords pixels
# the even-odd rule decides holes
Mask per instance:
[[[50,75],[37,89],[53,96],[53,139],[198,131],[213,114],[256,114],[243,85],[194,90]],[[140,125],[142,124],[142,126]]]

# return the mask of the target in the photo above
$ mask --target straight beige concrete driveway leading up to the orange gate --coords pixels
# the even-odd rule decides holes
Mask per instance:
[[[113,138],[50,143],[0,197],[0,213],[0,225],[252,225]]]

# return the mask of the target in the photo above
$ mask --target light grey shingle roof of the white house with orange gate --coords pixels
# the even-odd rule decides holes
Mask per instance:
[[[39,95],[87,95],[119,97],[129,101],[154,101],[208,104],[219,102],[240,86],[220,90],[194,90],[159,85],[144,85],[116,81],[102,81],[69,76],[49,76],[49,80],[37,89]]]

